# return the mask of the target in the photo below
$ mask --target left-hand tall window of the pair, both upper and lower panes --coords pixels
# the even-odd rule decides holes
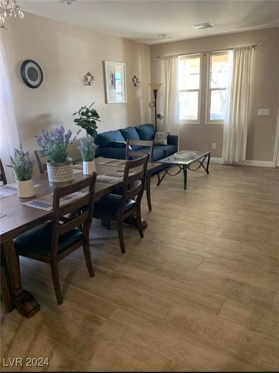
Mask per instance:
[[[178,68],[179,119],[199,122],[201,56],[181,56]]]

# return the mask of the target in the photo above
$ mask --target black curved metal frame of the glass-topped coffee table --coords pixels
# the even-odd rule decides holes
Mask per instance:
[[[165,157],[164,159],[169,159],[170,157]],[[204,167],[203,163],[205,161],[205,159],[207,158],[207,165],[206,167]],[[165,164],[170,164],[170,162],[164,162],[164,159],[160,159],[158,160],[157,162],[158,163],[165,163]],[[209,162],[210,162],[210,152],[204,152],[202,155],[200,155],[199,157],[197,157],[196,159],[193,159],[192,161],[189,159],[189,163],[187,164],[182,164],[182,163],[179,163],[179,162],[182,162],[183,159],[179,159],[177,158],[177,162],[175,162],[175,159],[174,159],[174,162],[170,164],[170,166],[164,170],[164,175],[162,177],[160,177],[160,174],[157,173],[157,176],[158,176],[158,183],[157,183],[157,186],[159,186],[162,181],[164,180],[164,177],[166,174],[170,175],[170,176],[176,176],[178,175],[182,170],[183,170],[183,174],[184,174],[184,190],[186,190],[186,187],[187,187],[187,170],[191,170],[191,171],[197,171],[200,167],[202,167],[207,174],[209,174]],[[185,158],[185,162],[187,161],[187,159]],[[199,165],[196,169],[192,169],[190,168],[190,166],[195,163],[195,162],[198,162]],[[178,172],[176,173],[169,173],[169,170],[172,168],[172,167],[179,167],[179,170]]]

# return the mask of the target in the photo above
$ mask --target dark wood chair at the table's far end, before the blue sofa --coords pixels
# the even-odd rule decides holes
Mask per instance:
[[[141,149],[141,152],[133,151],[130,149],[130,146],[144,146],[145,149]],[[146,151],[146,152],[145,152]],[[126,159],[130,160],[132,157],[142,157],[143,153],[149,153],[149,162],[153,161],[153,152],[154,152],[154,141],[153,140],[130,140],[128,139],[126,142]],[[146,185],[146,196],[147,196],[147,203],[148,203],[148,210],[152,210],[151,204],[151,176],[147,177]]]

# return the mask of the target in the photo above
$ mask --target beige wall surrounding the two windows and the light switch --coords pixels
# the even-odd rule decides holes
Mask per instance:
[[[154,59],[155,56],[222,50],[257,43],[262,43],[263,47],[252,52],[246,159],[272,161],[279,105],[278,27],[152,45],[151,81],[160,81],[160,60]],[[202,69],[206,73],[206,66]],[[160,91],[158,98],[159,94]],[[259,117],[259,108],[270,109],[270,116]],[[223,125],[205,124],[204,107],[201,107],[200,124],[181,124],[181,149],[211,150],[213,157],[221,157],[222,141]],[[216,150],[211,149],[213,142]]]

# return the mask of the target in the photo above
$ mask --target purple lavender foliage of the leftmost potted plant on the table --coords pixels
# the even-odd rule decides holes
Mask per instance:
[[[22,144],[20,144],[19,149],[15,149],[14,158],[10,157],[10,159],[11,165],[8,165],[8,167],[14,169],[16,180],[27,181],[32,179],[35,161],[29,159],[28,150],[26,152],[22,150]]]

